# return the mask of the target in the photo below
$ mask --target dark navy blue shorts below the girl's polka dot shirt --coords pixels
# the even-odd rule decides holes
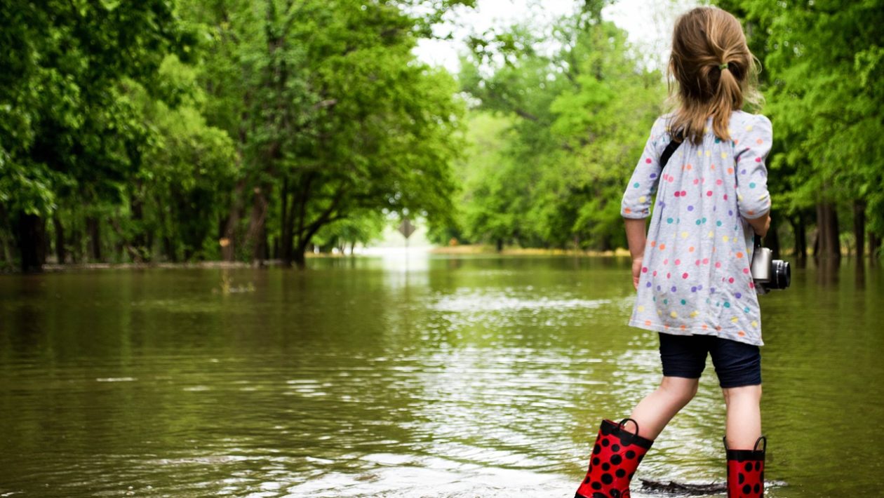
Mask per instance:
[[[660,360],[666,377],[699,379],[706,366],[706,354],[713,356],[721,387],[761,384],[761,351],[745,342],[713,335],[659,333]]]

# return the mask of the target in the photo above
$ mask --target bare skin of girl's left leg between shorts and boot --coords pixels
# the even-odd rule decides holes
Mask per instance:
[[[699,381],[700,379],[663,377],[660,387],[645,396],[629,416],[638,423],[638,435],[652,441],[657,439],[669,420],[697,394]]]

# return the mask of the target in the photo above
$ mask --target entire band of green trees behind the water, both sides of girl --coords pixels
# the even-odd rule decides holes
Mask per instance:
[[[0,0],[0,265],[279,259],[419,218],[438,243],[613,249],[664,75],[606,0],[412,53],[472,0]],[[773,249],[884,235],[884,1],[721,1],[773,121]],[[552,54],[541,47],[556,47]]]

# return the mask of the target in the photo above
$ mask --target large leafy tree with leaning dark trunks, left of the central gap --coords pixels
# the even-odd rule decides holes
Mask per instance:
[[[451,217],[461,106],[453,80],[412,55],[423,24],[401,4],[230,0],[188,11],[213,34],[210,124],[237,137],[242,157],[225,222],[233,247],[263,259],[273,230],[283,262],[302,268],[316,233],[351,213]]]

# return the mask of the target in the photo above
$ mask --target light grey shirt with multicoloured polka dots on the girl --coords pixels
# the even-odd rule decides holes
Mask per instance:
[[[624,218],[651,216],[629,325],[762,346],[750,272],[754,231],[746,219],[770,211],[771,122],[735,111],[731,140],[722,141],[709,119],[703,142],[683,142],[661,170],[671,140],[667,119],[652,126],[621,202]]]

